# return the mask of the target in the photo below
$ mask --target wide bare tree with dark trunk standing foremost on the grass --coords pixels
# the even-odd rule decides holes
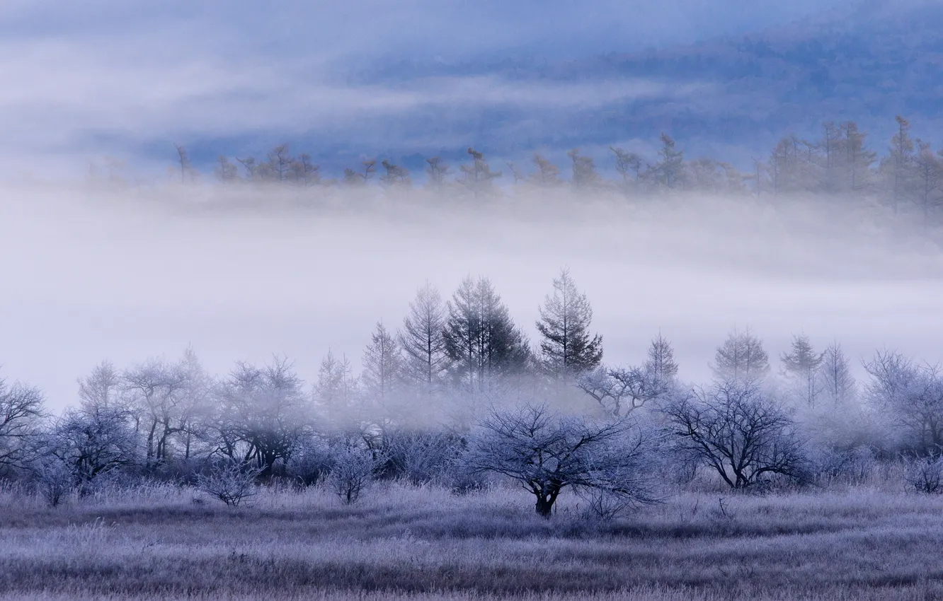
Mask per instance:
[[[649,467],[651,441],[624,419],[597,422],[561,415],[546,405],[494,411],[472,438],[473,471],[517,480],[549,518],[567,487],[605,490],[633,504],[656,500]]]

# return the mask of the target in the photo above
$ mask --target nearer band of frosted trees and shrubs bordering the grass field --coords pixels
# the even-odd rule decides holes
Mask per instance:
[[[395,330],[377,323],[359,374],[329,351],[310,384],[280,357],[217,376],[188,349],[98,365],[59,415],[38,388],[0,381],[0,468],[53,505],[134,478],[227,504],[271,479],[322,482],[355,502],[374,479],[461,494],[503,478],[541,515],[568,489],[611,515],[698,474],[755,490],[852,481],[895,458],[914,462],[914,486],[943,491],[935,366],[882,351],[859,385],[837,343],[817,350],[797,335],[770,362],[758,336],[735,330],[712,381],[694,385],[661,334],[639,365],[605,364],[591,319],[564,270],[532,343],[488,279],[467,278],[448,300],[422,285]]]

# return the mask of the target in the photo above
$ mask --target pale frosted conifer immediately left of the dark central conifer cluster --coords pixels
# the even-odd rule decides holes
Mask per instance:
[[[450,365],[442,336],[446,317],[445,302],[427,282],[409,303],[409,313],[399,333],[403,376],[406,381],[421,385],[426,394],[442,381]]]

